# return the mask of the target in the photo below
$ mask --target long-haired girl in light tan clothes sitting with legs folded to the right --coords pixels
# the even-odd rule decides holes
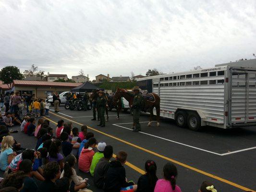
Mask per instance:
[[[61,178],[66,177],[69,179],[69,191],[76,192],[80,189],[84,189],[87,184],[87,179],[81,178],[76,175],[76,171],[74,169],[76,164],[76,157],[73,155],[68,155],[65,158],[64,169],[61,173]]]

